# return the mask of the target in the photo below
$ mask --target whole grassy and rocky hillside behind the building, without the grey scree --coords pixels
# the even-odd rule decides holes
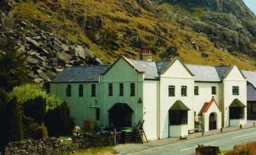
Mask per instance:
[[[187,63],[255,69],[255,17],[241,2],[27,0],[14,5],[11,19],[85,44],[105,63],[138,58],[150,45],[156,60],[179,55]]]

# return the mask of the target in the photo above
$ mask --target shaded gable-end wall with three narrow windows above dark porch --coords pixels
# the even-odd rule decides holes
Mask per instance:
[[[134,111],[132,114],[132,126],[139,120],[143,120],[142,104],[137,103],[138,99],[143,99],[143,74],[138,73],[125,61],[119,59],[106,74],[102,77],[102,124],[109,126],[109,108],[116,103],[127,103]],[[119,84],[124,84],[124,96],[119,96]],[[130,84],[135,84],[135,96],[130,96]],[[109,84],[113,84],[113,96],[109,96]]]

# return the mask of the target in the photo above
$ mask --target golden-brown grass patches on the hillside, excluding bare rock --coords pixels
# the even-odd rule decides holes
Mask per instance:
[[[47,2],[51,2],[50,0],[40,1],[37,3],[33,2],[20,2],[14,8],[14,15],[18,16],[24,20],[33,20],[39,19],[42,20],[42,23],[58,25],[60,29],[55,29],[54,31],[62,35],[66,38],[69,38],[72,41],[76,41],[79,43],[88,44],[91,50],[97,53],[97,56],[100,56],[104,62],[113,62],[113,59],[116,59],[119,55],[129,56],[128,53],[125,53],[125,49],[131,47],[131,41],[125,40],[122,37],[116,37],[115,40],[122,42],[124,47],[120,48],[118,51],[113,51],[110,49],[107,44],[94,44],[86,35],[83,29],[81,29],[76,23],[64,18],[61,20],[60,17],[63,17],[63,13],[61,11],[51,11],[48,8]],[[118,0],[72,0],[73,3],[76,3],[76,7],[69,7],[68,0],[59,0],[59,4],[62,9],[69,10],[71,12],[76,11],[84,11],[83,14],[88,16],[96,16],[100,15],[104,19],[104,29],[108,32],[113,32],[113,34],[118,34],[122,36],[122,31],[125,27],[131,27],[133,29],[137,29],[140,37],[144,38],[151,44],[155,44],[156,35],[151,33],[150,31],[140,30],[138,29],[139,24],[143,24],[143,26],[147,26],[147,29],[154,31],[154,29],[158,29],[160,35],[165,37],[167,44],[173,44],[176,46],[180,53],[180,58],[187,63],[195,63],[195,64],[205,64],[205,65],[230,65],[237,64],[241,68],[246,69],[256,69],[253,65],[248,65],[246,62],[256,63],[255,59],[251,59],[248,56],[239,55],[232,56],[229,53],[221,51],[214,47],[214,44],[208,40],[208,38],[204,34],[196,33],[191,31],[190,29],[184,30],[180,29],[180,26],[177,23],[174,23],[171,20],[168,20],[165,17],[160,19],[154,17],[153,13],[144,11],[140,17],[131,17],[128,16],[128,12],[122,8],[122,1]],[[159,6],[163,10],[172,9],[170,6],[163,4]],[[44,9],[42,9],[44,8]],[[189,13],[187,13],[189,14]],[[191,16],[198,17],[199,14],[193,14]],[[113,22],[109,17],[119,17],[125,20],[129,20],[129,23],[116,23]],[[169,29],[171,36],[166,35],[161,31],[160,26],[165,26]],[[152,39],[146,39],[152,38]],[[199,47],[204,51],[208,51],[210,56],[208,58],[203,58],[201,53],[193,48],[191,45],[192,41],[196,41]],[[134,48],[135,51],[139,52],[139,49]],[[222,56],[224,60],[219,60],[218,57]],[[133,56],[134,57],[134,56]],[[135,57],[134,57],[135,58]],[[156,56],[156,59],[159,59]]]

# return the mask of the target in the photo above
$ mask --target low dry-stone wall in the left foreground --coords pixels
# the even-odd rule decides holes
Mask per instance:
[[[44,154],[58,155],[88,147],[101,147],[113,145],[111,132],[75,133],[70,141],[61,141],[57,138],[45,138],[40,140],[26,139],[8,143],[5,147],[5,155],[15,154]]]

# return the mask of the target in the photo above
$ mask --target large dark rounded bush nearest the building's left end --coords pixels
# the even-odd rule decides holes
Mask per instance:
[[[66,102],[56,108],[49,109],[45,116],[45,126],[50,136],[70,135],[75,123],[70,116],[69,107]]]

